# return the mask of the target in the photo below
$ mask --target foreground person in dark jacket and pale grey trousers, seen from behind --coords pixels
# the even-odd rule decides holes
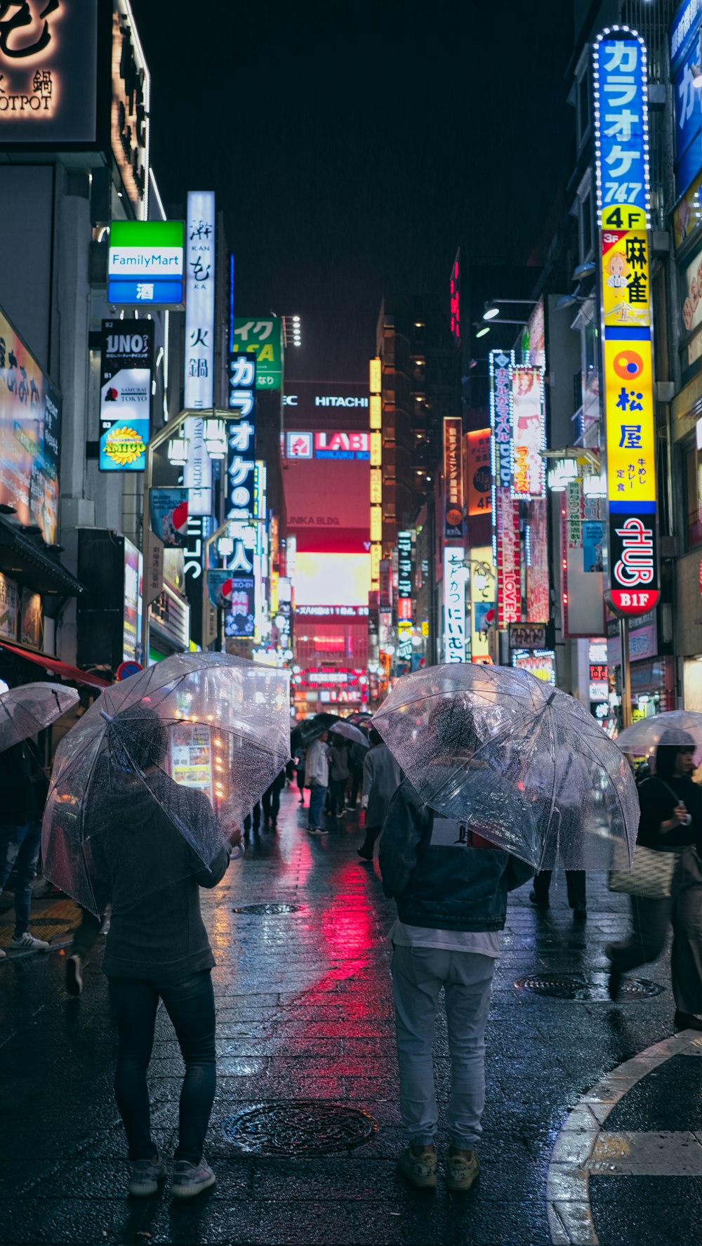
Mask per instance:
[[[477,748],[470,714],[451,721],[451,748],[468,759]],[[448,741],[447,741],[448,744]],[[499,780],[495,776],[497,799]],[[479,1172],[475,1144],[485,1101],[485,1023],[507,895],[533,870],[488,844],[469,822],[439,817],[406,779],[385,820],[380,867],[383,891],[397,902],[392,939],[400,1111],[410,1145],[401,1174],[418,1187],[437,1184],[438,1106],[433,1042],[444,989],[451,1049],[451,1190],[469,1190]]]

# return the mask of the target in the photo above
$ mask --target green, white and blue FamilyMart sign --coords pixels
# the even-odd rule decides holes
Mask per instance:
[[[117,307],[183,307],[183,222],[113,221],[107,302]]]

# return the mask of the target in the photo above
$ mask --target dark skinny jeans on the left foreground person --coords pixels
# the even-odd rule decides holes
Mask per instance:
[[[110,998],[119,1039],[115,1096],[129,1159],[149,1160],[157,1150],[151,1136],[147,1069],[158,1001],[163,999],[185,1062],[176,1159],[199,1164],[217,1087],[210,971],[190,973],[179,982],[110,978]]]

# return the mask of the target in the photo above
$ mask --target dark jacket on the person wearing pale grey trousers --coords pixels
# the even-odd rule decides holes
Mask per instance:
[[[447,824],[417,796],[408,779],[392,797],[380,845],[386,896],[402,922],[446,931],[499,931],[507,895],[534,871],[502,849],[477,847],[469,824],[447,842]]]

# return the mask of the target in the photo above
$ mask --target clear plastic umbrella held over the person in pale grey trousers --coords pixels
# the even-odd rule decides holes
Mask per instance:
[[[509,667],[431,667],[397,682],[373,726],[427,805],[535,868],[629,868],[634,776],[566,693]]]

